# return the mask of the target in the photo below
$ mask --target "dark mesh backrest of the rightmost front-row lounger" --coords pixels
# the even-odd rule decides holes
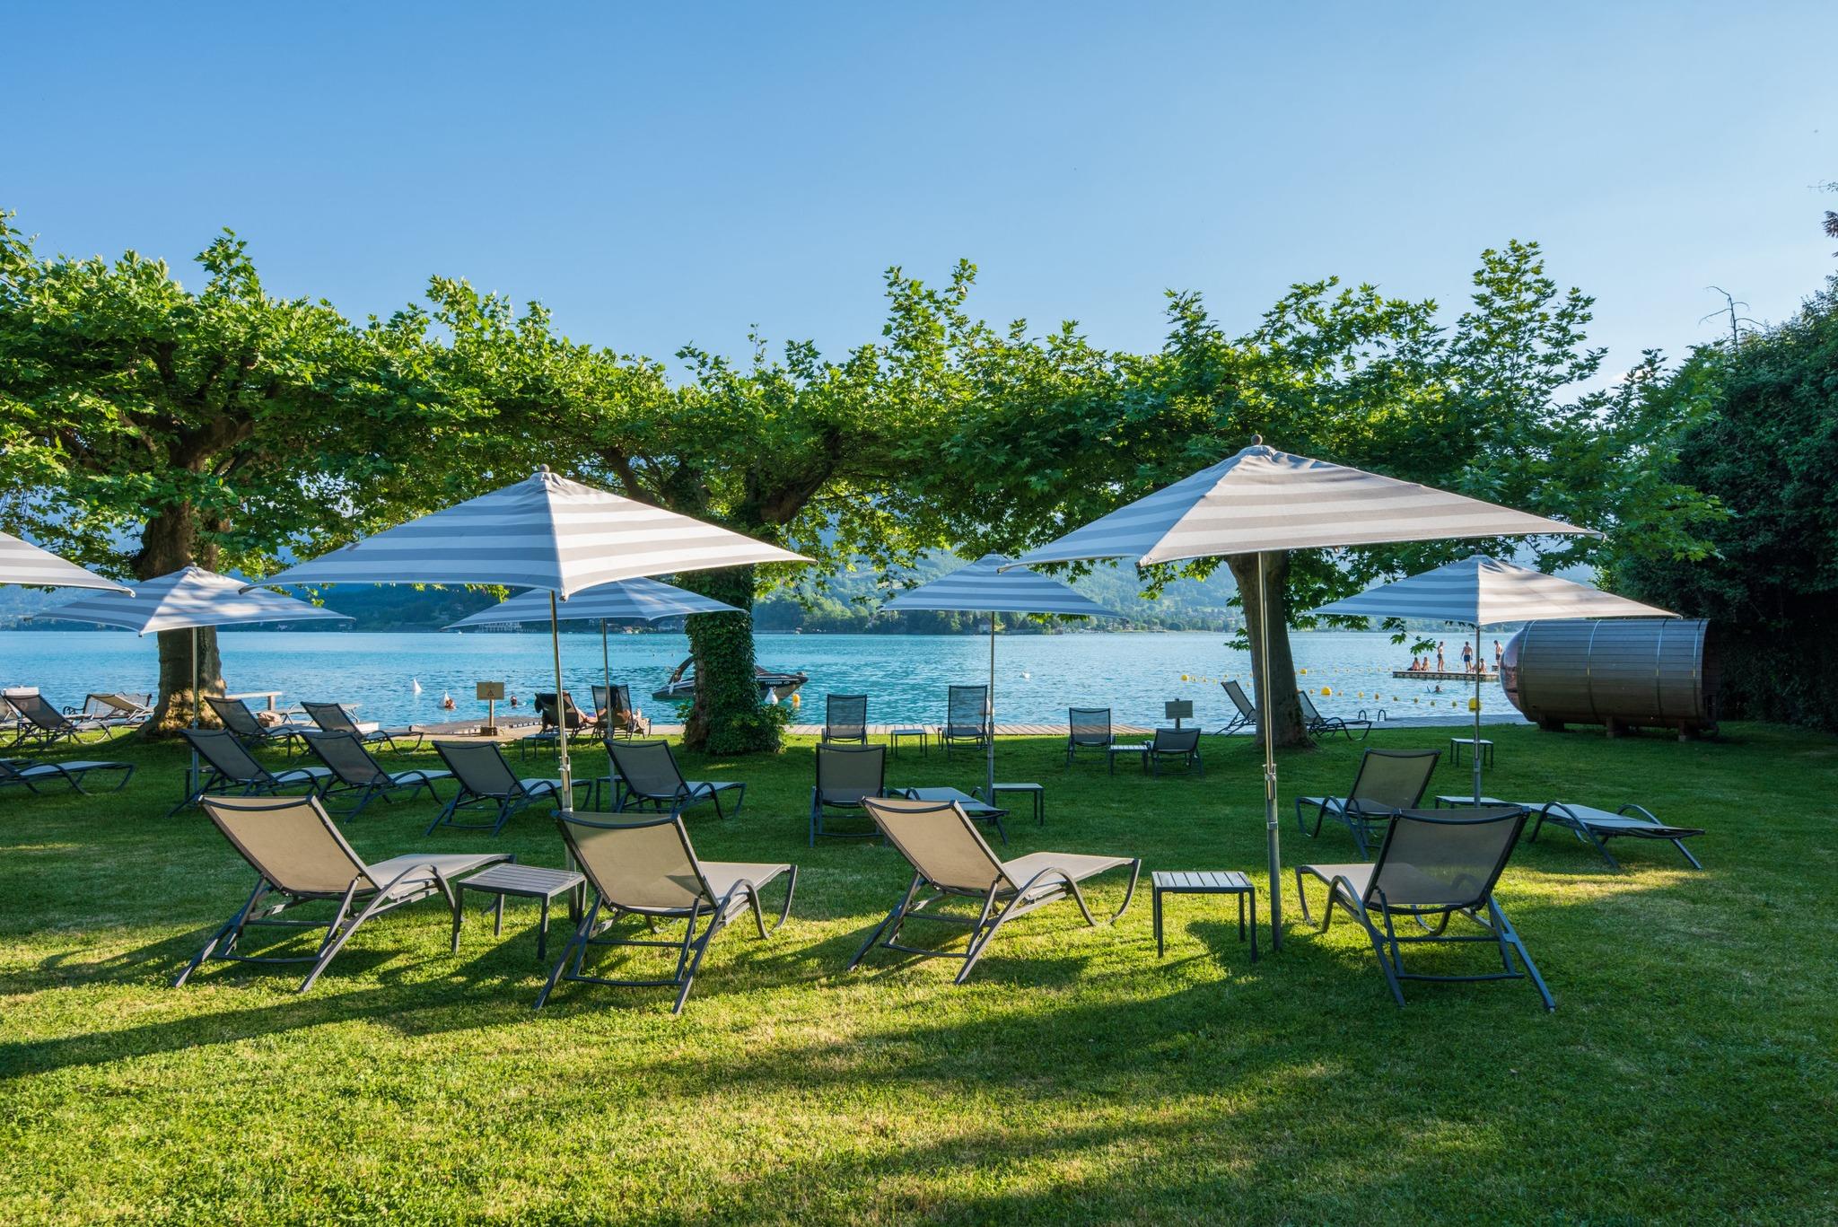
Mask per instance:
[[[1505,870],[1526,811],[1404,809],[1393,815],[1373,861],[1366,901],[1408,909],[1480,907]]]

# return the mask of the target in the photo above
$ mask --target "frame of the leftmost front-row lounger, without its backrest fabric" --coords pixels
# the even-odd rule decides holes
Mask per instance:
[[[325,826],[325,837],[351,861],[351,885],[342,892],[329,890],[289,890],[270,877],[270,868],[263,866],[261,859],[250,852],[224,824],[219,811],[248,811],[248,809],[296,809],[298,806],[311,806],[318,820]],[[351,844],[344,841],[338,833],[336,824],[333,824],[331,815],[320,806],[318,797],[261,797],[261,798],[221,798],[210,797],[202,802],[204,813],[210,815],[217,830],[222,831],[230,846],[250,863],[255,870],[255,889],[250,892],[243,907],[237,909],[230,920],[226,920],[211,936],[204,942],[186,969],[178,973],[173,980],[173,988],[180,988],[191,973],[204,966],[206,960],[228,960],[228,962],[255,962],[255,964],[312,964],[307,971],[307,979],[300,982],[294,992],[307,992],[312,988],[320,973],[331,966],[331,960],[346,947],[351,935],[358,927],[380,916],[384,912],[393,912],[397,907],[406,907],[408,903],[419,903],[421,900],[441,894],[447,900],[447,907],[454,914],[458,923],[460,916],[460,894],[454,890],[452,879],[460,874],[471,874],[474,870],[485,868],[487,865],[496,865],[500,861],[515,861],[511,854],[485,854],[485,855],[428,855],[428,857],[395,857],[390,863],[386,874],[375,874],[369,865],[366,865],[353,850]],[[278,901],[267,901],[270,896],[278,896]],[[301,907],[305,903],[336,903],[333,918],[329,922],[318,920],[296,920],[283,916],[283,912]],[[320,946],[311,955],[243,955],[237,953],[237,946],[250,929],[325,929],[320,938]],[[285,940],[285,938],[283,938]]]

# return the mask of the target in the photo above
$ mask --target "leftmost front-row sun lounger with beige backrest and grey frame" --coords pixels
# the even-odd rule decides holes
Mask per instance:
[[[255,870],[255,890],[193,955],[173,988],[208,958],[309,962],[312,969],[298,990],[303,993],[371,916],[436,894],[445,896],[458,916],[460,896],[452,879],[511,859],[507,854],[412,852],[366,863],[338,833],[318,797],[206,797],[202,806],[237,855]],[[336,909],[329,922],[283,916],[303,903],[335,903]],[[323,929],[325,936],[311,955],[244,955],[237,947],[250,929]]]

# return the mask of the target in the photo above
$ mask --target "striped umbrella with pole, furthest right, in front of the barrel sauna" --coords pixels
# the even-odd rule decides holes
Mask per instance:
[[[1481,804],[1481,627],[1544,618],[1676,618],[1678,614],[1630,602],[1586,583],[1474,554],[1421,576],[1366,589],[1358,596],[1312,611],[1336,616],[1435,618],[1474,627],[1474,806]]]

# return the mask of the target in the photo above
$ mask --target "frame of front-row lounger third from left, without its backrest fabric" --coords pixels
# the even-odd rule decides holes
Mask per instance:
[[[947,809],[956,813],[958,820],[963,824],[967,837],[976,841],[976,844],[981,848],[983,857],[987,857],[989,861],[991,877],[989,885],[983,889],[970,889],[961,883],[941,883],[928,877],[926,872],[921,868],[921,861],[926,857],[923,854],[913,855],[913,852],[908,850],[906,844],[901,841],[899,831],[890,830],[884,820],[884,815],[890,813],[921,815],[921,813],[941,813]],[[963,962],[963,968],[958,969],[954,982],[963,984],[967,979],[970,979],[970,971],[976,968],[978,960],[989,949],[989,942],[994,940],[1002,925],[1015,920],[1016,916],[1026,916],[1027,912],[1038,911],[1042,907],[1048,907],[1049,903],[1059,903],[1061,900],[1070,898],[1073,903],[1079,905],[1079,914],[1084,916],[1084,923],[1090,927],[1097,927],[1097,918],[1092,916],[1092,909],[1084,901],[1084,890],[1081,889],[1083,881],[1090,881],[1097,874],[1108,872],[1112,868],[1123,868],[1125,865],[1129,866],[1130,885],[1123,896],[1123,903],[1118,907],[1116,912],[1110,914],[1106,923],[1116,923],[1123,916],[1123,912],[1129,911],[1130,900],[1136,898],[1136,879],[1141,877],[1141,868],[1143,868],[1141,857],[1101,857],[1112,861],[1112,865],[1106,865],[1105,868],[1088,874],[1073,874],[1068,872],[1066,868],[1048,863],[1033,870],[1026,879],[1016,881],[1009,874],[1009,868],[996,859],[996,854],[989,848],[989,844],[983,841],[983,835],[976,830],[976,824],[970,822],[970,819],[963,813],[963,806],[959,806],[958,802],[869,800],[868,813],[873,815],[875,824],[880,826],[880,831],[882,835],[886,835],[888,843],[899,848],[901,855],[904,855],[906,861],[913,866],[913,877],[906,885],[906,892],[901,896],[901,901],[893,905],[893,911],[888,912],[886,918],[873,927],[873,931],[869,931],[868,940],[864,940],[860,949],[855,951],[855,958],[849,960],[847,968],[849,971],[855,971],[858,966],[862,966],[862,960],[868,958],[869,951],[880,947],[880,949],[899,951],[902,955],[917,955],[919,958],[958,958]],[[1051,861],[1051,857],[1055,855],[1068,855],[1068,854],[1035,854],[1035,857],[1048,861]],[[937,909],[939,903],[947,903],[950,900],[967,900],[976,903],[976,914],[965,916],[959,912],[947,912]],[[939,922],[967,929],[969,944],[961,953],[926,947],[926,946],[906,946],[899,940],[901,929],[906,927],[906,923],[912,920]]]

